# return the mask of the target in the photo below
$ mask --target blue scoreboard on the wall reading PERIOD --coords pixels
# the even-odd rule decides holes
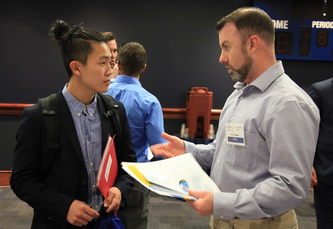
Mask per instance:
[[[333,61],[333,0],[254,0],[275,26],[278,60]]]

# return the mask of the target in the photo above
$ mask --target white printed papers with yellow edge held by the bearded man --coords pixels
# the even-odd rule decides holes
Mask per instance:
[[[196,200],[187,190],[220,192],[191,153],[156,162],[121,165],[146,188],[163,196]]]

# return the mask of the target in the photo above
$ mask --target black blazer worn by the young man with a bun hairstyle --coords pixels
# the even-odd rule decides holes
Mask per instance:
[[[77,228],[66,221],[69,207],[74,199],[84,202],[88,200],[88,173],[75,125],[61,91],[57,97],[61,114],[60,150],[54,155],[43,181],[39,174],[42,120],[38,104],[23,110],[21,126],[16,134],[17,145],[10,185],[14,193],[34,209],[31,228],[36,229]],[[108,134],[113,135],[116,131],[111,118],[103,115],[106,108],[101,98],[97,97],[102,128],[102,155]],[[117,103],[123,129],[121,149],[117,152],[119,171],[114,186],[121,190],[127,202],[133,179],[122,170],[120,163],[136,162],[136,156],[124,107],[121,102]]]

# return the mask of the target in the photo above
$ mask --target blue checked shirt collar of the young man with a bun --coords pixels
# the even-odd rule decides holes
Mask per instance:
[[[95,93],[94,99],[92,100],[91,104],[85,105],[80,102],[78,99],[74,98],[72,94],[67,90],[68,83],[63,87],[62,94],[63,97],[66,99],[68,106],[71,110],[73,110],[76,114],[81,114],[84,110],[87,110],[85,113],[93,114],[96,110],[97,106],[97,96]],[[85,108],[86,107],[86,108]]]

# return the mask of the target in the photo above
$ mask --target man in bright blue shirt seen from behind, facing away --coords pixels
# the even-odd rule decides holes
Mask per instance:
[[[166,142],[161,132],[163,113],[158,99],[146,91],[139,82],[140,74],[145,70],[147,54],[145,48],[137,42],[126,42],[118,53],[120,75],[109,85],[106,93],[121,101],[131,130],[137,161],[149,162],[149,146]],[[146,229],[149,215],[149,190],[134,181],[134,188],[128,201],[126,221],[128,229]]]

